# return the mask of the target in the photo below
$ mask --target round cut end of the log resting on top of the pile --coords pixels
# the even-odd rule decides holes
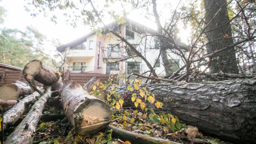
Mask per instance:
[[[23,75],[28,79],[32,79],[34,75],[38,74],[42,69],[42,62],[39,60],[33,60],[26,64],[23,69]]]

